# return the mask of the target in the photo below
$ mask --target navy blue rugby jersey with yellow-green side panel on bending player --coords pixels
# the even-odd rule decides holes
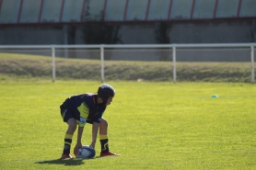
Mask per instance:
[[[81,94],[71,96],[64,101],[62,109],[67,109],[76,119],[80,127],[84,127],[86,122],[100,122],[106,109],[105,104],[98,104],[98,96],[95,94]]]

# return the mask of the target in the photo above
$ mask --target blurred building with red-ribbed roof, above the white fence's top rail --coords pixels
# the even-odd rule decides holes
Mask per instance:
[[[3,45],[255,41],[255,0],[0,0]]]

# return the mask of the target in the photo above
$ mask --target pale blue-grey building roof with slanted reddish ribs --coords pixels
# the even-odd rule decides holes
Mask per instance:
[[[0,0],[0,25],[256,18],[256,0]]]

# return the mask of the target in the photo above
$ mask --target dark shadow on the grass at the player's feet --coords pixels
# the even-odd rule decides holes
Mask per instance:
[[[99,158],[98,156],[94,157],[93,159]],[[92,159],[81,159],[81,158],[71,158],[71,159],[53,159],[53,160],[46,160],[46,161],[38,161],[35,164],[64,164],[64,165],[81,165],[85,164],[84,161],[89,161]]]

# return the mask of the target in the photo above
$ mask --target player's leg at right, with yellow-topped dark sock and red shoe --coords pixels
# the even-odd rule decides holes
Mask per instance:
[[[109,150],[108,121],[103,118],[99,123],[99,141],[101,145],[100,156],[120,155],[116,153],[111,153]]]

